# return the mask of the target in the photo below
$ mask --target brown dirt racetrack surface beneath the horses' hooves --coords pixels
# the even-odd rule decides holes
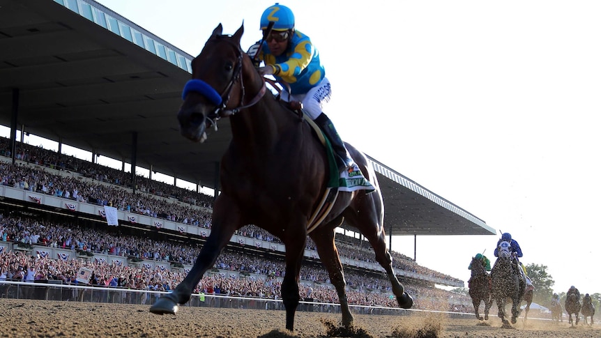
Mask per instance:
[[[409,316],[355,315],[353,332],[335,336],[340,314],[298,312],[295,331],[284,330],[284,312],[182,307],[177,316],[156,316],[148,305],[0,299],[0,337],[601,337],[599,325],[522,318],[514,328],[474,319],[414,312]]]

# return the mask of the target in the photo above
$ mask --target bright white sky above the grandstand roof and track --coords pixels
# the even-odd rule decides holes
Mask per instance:
[[[98,2],[193,56],[220,22],[244,22],[246,49],[274,3]],[[321,54],[343,139],[512,233],[554,291],[601,293],[600,1],[281,3]],[[416,259],[467,280],[498,238],[420,236]],[[413,237],[393,250],[413,257]]]

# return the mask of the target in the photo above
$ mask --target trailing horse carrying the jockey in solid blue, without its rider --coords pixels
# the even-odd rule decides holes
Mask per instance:
[[[524,297],[526,291],[526,280],[522,273],[517,270],[517,261],[511,256],[499,256],[494,263],[490,273],[492,280],[492,298],[499,308],[499,318],[503,325],[508,325],[505,319],[505,303],[511,300],[511,323],[517,322],[519,316],[519,303]]]

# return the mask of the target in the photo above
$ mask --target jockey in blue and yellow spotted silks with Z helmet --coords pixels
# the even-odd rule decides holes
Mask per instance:
[[[267,31],[270,22],[275,23],[271,31]],[[332,95],[326,70],[310,38],[294,28],[292,10],[279,3],[270,6],[261,15],[261,30],[263,45],[259,47],[256,43],[247,52],[254,59],[260,51],[257,58],[259,62],[264,61],[265,66],[258,68],[259,73],[273,75],[278,82],[288,84],[290,93],[282,91],[282,100],[296,100],[303,104],[306,114],[319,125],[332,144],[339,171],[353,167],[353,159],[344,142],[330,118],[322,112]]]

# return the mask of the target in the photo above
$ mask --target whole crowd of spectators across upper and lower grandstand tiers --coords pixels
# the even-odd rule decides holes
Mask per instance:
[[[8,140],[0,141],[0,155],[10,155],[8,152]],[[137,180],[138,192],[128,189],[130,175],[111,169],[102,167],[98,164],[86,162],[73,157],[59,155],[52,151],[46,151],[43,148],[31,147],[29,145],[19,144],[17,148],[17,158],[28,164],[10,164],[9,162],[0,162],[0,183],[11,187],[18,187],[24,190],[42,192],[52,194],[57,197],[66,199],[75,199],[86,203],[98,203],[99,205],[112,205],[121,210],[128,210],[134,213],[141,213],[153,217],[163,217],[174,222],[182,222],[196,226],[211,227],[211,208],[212,197],[196,192],[190,192],[182,188],[167,185],[156,181],[148,180],[148,178],[139,177]],[[36,164],[36,165],[32,165]],[[45,170],[47,166],[50,169],[61,169],[61,172]],[[81,174],[81,176],[67,175],[70,171]],[[140,194],[139,192],[148,192]],[[180,202],[175,203],[166,199],[167,197],[176,197]],[[191,202],[191,203],[190,203]],[[203,208],[200,208],[202,206]],[[99,252],[103,254],[116,254],[121,256],[137,256],[143,259],[153,259],[155,261],[176,261],[184,264],[191,264],[196,259],[199,252],[198,247],[182,247],[170,242],[153,242],[149,239],[138,238],[137,236],[115,236],[104,231],[93,229],[79,229],[77,226],[69,226],[67,224],[42,224],[33,220],[16,220],[11,217],[4,218],[2,223],[1,236],[3,240],[17,240],[22,243],[31,243],[38,245],[49,245],[54,247],[67,247],[71,249],[82,249],[89,252]],[[260,229],[257,226],[245,226],[238,231],[241,236],[257,238],[269,242],[280,243],[280,240],[272,236],[270,233]],[[353,240],[348,236],[340,236],[342,242],[337,240],[341,257],[356,259],[358,261],[367,261],[374,263],[374,254],[366,242],[361,241],[362,245],[353,245]],[[345,244],[349,243],[349,244]],[[307,240],[307,249],[314,249],[314,243]],[[3,258],[8,255],[8,252],[3,253]],[[440,274],[431,269],[419,266],[415,261],[407,256],[397,252],[391,252],[393,255],[393,266],[397,269],[416,272],[420,275],[441,277],[443,279],[457,280],[450,276]],[[18,256],[18,255],[17,255]],[[24,257],[13,256],[10,259],[13,262],[22,261]],[[5,261],[5,260],[3,260]],[[64,266],[65,262],[60,260],[50,260],[46,257],[38,257],[37,262],[43,262],[44,268],[38,269],[36,275],[46,275],[47,278],[61,279],[64,282],[73,282],[73,273],[77,272],[77,261],[68,262],[72,268]],[[19,266],[31,266],[22,264],[12,264],[11,271],[6,263],[3,264],[3,275],[14,276],[19,275]],[[131,289],[155,289],[169,290],[173,285],[176,285],[183,278],[182,272],[177,271],[144,271],[137,269],[133,271],[124,271],[122,269],[130,269],[127,267],[112,267],[103,266],[102,262],[79,262],[84,266],[91,265],[95,269],[95,276],[99,284],[116,283],[119,286],[128,287]],[[39,265],[39,264],[38,264]],[[55,266],[61,266],[56,268]],[[46,268],[47,267],[47,268]],[[81,267],[81,266],[79,266]],[[213,289],[215,280],[218,279],[219,286],[225,284],[229,292],[234,290],[236,295],[250,295],[250,293],[262,293],[263,295],[279,294],[277,289],[277,277],[281,277],[284,273],[283,261],[273,261],[270,259],[254,259],[245,254],[236,252],[224,252],[215,263],[215,268],[224,270],[236,270],[257,273],[266,276],[262,281],[251,281],[250,279],[235,279],[229,280],[218,275],[205,277],[199,290],[210,290],[211,284]],[[116,270],[115,270],[116,269]],[[6,271],[5,271],[6,270]],[[25,272],[25,270],[21,270]],[[62,272],[62,276],[56,275],[56,271]],[[54,272],[54,275],[53,275]],[[128,272],[128,273],[125,273]],[[140,273],[144,272],[144,278]],[[28,276],[24,273],[25,276]],[[111,277],[119,276],[119,277]],[[366,277],[367,276],[367,277]],[[0,276],[1,277],[1,276]],[[31,277],[31,276],[29,276]],[[380,305],[394,305],[394,300],[386,299],[385,293],[372,291],[387,291],[389,282],[384,278],[376,278],[372,275],[353,275],[347,272],[347,284],[349,286],[349,299],[361,299],[361,302],[366,305],[370,302],[376,302]],[[303,267],[301,271],[301,279],[324,283],[326,285],[328,275],[325,270],[312,266]],[[226,283],[227,282],[227,283]],[[95,283],[92,281],[92,284]],[[234,284],[236,287],[228,286]],[[239,284],[239,285],[238,285]],[[259,288],[257,284],[268,285],[269,288]],[[322,290],[323,289],[323,290]],[[223,290],[220,287],[220,290]],[[254,290],[254,291],[253,291]],[[258,290],[258,291],[257,291]],[[388,290],[389,291],[389,290]],[[416,304],[423,303],[425,299],[443,297],[448,298],[446,291],[434,289],[425,286],[415,286],[415,289],[409,288],[409,291],[415,293],[430,294],[428,297],[420,298]],[[220,291],[222,292],[222,291]],[[301,291],[303,293],[304,291]],[[357,294],[355,294],[357,293]],[[442,293],[442,294],[439,294]],[[324,302],[336,301],[337,296],[332,289],[328,287],[317,288],[313,293],[313,298]],[[392,304],[391,304],[392,303]],[[375,303],[374,303],[375,304]]]

